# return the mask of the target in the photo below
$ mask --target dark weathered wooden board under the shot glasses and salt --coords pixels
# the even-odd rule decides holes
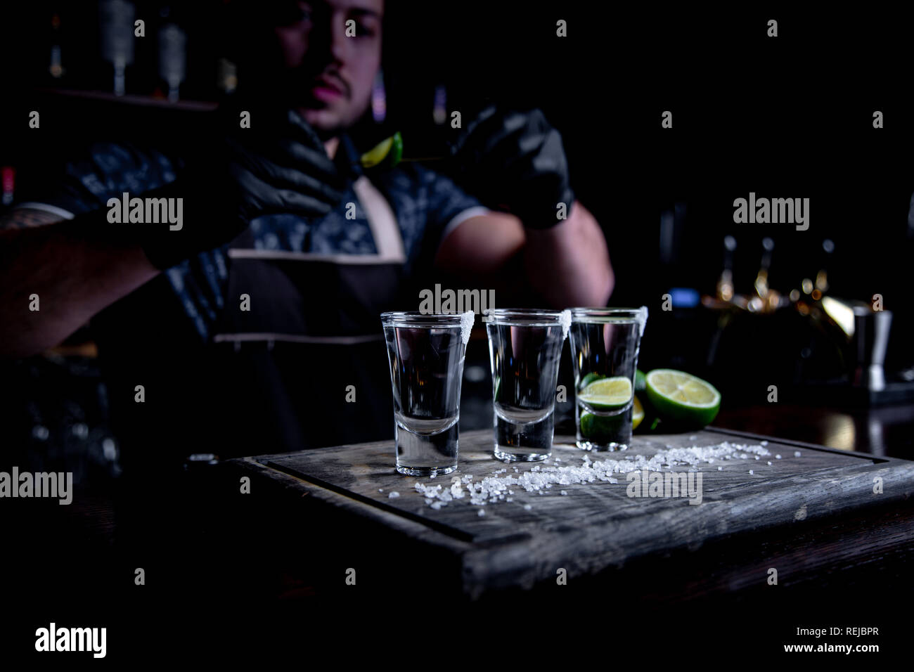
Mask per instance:
[[[594,461],[636,454],[650,457],[668,447],[724,441],[758,444],[762,440],[766,437],[706,429],[692,434],[636,435],[628,451],[584,453],[571,437],[557,436],[553,458],[561,462],[539,464],[542,469],[579,465],[585,454]],[[434,509],[415,490],[415,484],[419,481],[447,489],[454,475],[473,475],[475,482],[505,467],[507,472],[497,475],[516,476],[514,466],[524,472],[536,465],[494,460],[491,431],[463,433],[458,470],[434,479],[399,475],[394,470],[392,441],[231,462],[333,504],[341,516],[369,517],[412,539],[446,549],[462,569],[462,576],[454,579],[473,596],[554,579],[558,568],[569,576],[592,574],[646,554],[695,549],[734,533],[789,526],[914,495],[914,462],[787,440],[767,441],[770,457],[699,465],[703,496],[697,506],[690,505],[687,497],[630,497],[629,482],[621,474],[614,475],[618,483],[552,485],[543,495],[515,487],[512,502],[488,504],[484,516],[468,496]],[[797,451],[800,456],[795,455]],[[781,454],[781,459],[775,459],[775,454]],[[669,470],[687,471],[688,467],[663,471]],[[881,493],[874,492],[877,477]],[[561,495],[562,490],[567,494]],[[390,498],[392,491],[399,496]]]

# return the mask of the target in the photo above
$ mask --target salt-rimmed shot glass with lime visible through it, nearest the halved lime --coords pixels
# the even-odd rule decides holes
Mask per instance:
[[[632,403],[647,308],[572,308],[571,359],[578,447],[617,451],[632,442]]]

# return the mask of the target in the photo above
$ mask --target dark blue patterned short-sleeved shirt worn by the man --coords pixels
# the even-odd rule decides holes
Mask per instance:
[[[345,140],[340,149],[351,145]],[[126,143],[96,143],[84,158],[70,161],[57,190],[47,197],[20,203],[20,208],[38,208],[71,219],[75,215],[105,208],[111,197],[123,192],[132,196],[162,187],[176,178],[180,159],[154,149]],[[406,252],[406,272],[416,269],[429,240],[440,241],[463,220],[484,214],[480,202],[462,191],[449,178],[418,164],[404,164],[371,176],[397,218]],[[356,204],[356,218],[346,219],[346,204]],[[260,250],[303,251],[318,254],[374,254],[375,240],[349,187],[341,203],[322,219],[304,219],[294,214],[272,214],[251,220],[254,245]],[[431,237],[431,238],[430,238]],[[437,248],[437,244],[431,247]],[[197,254],[165,275],[197,333],[207,340],[222,308],[228,278],[228,245]],[[428,261],[428,260],[425,260]]]

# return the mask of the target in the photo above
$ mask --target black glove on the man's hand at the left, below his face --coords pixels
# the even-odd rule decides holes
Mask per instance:
[[[140,244],[157,268],[234,239],[260,215],[321,218],[342,200],[345,178],[314,130],[292,111],[267,119],[256,116],[251,129],[216,133],[197,147],[175,182],[135,195],[184,198],[182,229],[142,227]]]

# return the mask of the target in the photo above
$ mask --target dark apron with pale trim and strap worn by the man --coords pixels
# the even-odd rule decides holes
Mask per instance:
[[[250,229],[229,246],[212,345],[223,457],[393,436],[380,314],[402,309],[406,256],[385,198],[366,176],[353,188],[377,254],[255,250]]]

